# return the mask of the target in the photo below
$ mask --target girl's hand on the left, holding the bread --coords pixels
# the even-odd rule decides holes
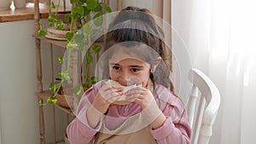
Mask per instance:
[[[119,99],[119,95],[123,93],[122,91],[122,88],[114,89],[108,82],[105,82],[96,94],[92,107],[96,108],[99,112],[107,112],[109,105]]]

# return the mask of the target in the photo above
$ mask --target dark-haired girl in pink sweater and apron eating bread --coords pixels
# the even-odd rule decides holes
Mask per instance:
[[[170,51],[147,9],[127,7],[109,26],[99,66],[105,80],[82,96],[67,126],[72,144],[188,144],[182,101],[172,93]],[[109,81],[108,79],[111,79]],[[112,83],[122,87],[113,87]],[[125,86],[137,85],[130,90]],[[125,95],[126,103],[115,104]]]

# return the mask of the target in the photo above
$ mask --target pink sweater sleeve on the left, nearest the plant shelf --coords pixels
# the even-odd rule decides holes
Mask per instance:
[[[91,144],[94,141],[97,131],[102,127],[102,118],[95,128],[91,128],[86,117],[86,112],[90,107],[95,94],[96,88],[94,87],[88,89],[84,93],[79,101],[77,117],[67,125],[67,137],[72,144]]]

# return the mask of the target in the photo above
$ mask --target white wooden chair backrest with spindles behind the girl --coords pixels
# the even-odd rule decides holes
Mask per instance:
[[[218,88],[197,69],[189,71],[189,81],[192,89],[186,108],[192,128],[191,144],[208,144],[212,136],[212,124],[220,106]]]

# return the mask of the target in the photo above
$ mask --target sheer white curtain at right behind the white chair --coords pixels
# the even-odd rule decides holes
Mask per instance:
[[[188,44],[193,66],[207,73],[222,96],[210,143],[255,143],[256,2],[172,2],[172,14],[184,10],[172,23]]]

